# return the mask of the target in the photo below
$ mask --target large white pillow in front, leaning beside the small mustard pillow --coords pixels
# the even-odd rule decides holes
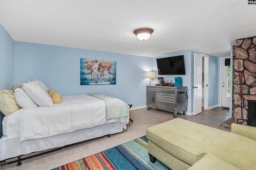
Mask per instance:
[[[52,98],[42,89],[41,86],[38,86],[36,83],[23,83],[22,89],[34,100],[37,106],[52,106]]]

